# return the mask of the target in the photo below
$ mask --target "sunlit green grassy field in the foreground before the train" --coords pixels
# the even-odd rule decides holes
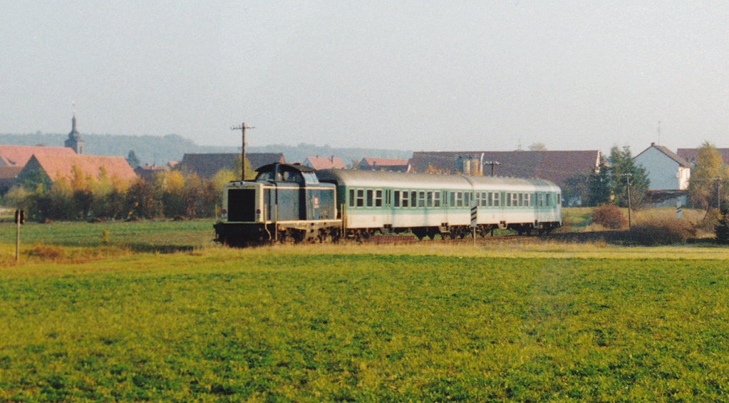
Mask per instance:
[[[0,269],[0,401],[729,399],[719,247],[118,250]]]

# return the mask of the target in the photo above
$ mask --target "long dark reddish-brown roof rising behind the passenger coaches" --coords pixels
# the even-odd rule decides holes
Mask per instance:
[[[482,159],[483,155],[483,159]],[[491,174],[488,161],[498,161],[495,172],[501,177],[534,177],[550,180],[558,186],[576,174],[590,174],[599,163],[599,150],[569,151],[460,151],[415,152],[410,163],[415,172],[425,172],[428,166],[446,172],[458,172],[459,157],[483,161],[483,174]]]

